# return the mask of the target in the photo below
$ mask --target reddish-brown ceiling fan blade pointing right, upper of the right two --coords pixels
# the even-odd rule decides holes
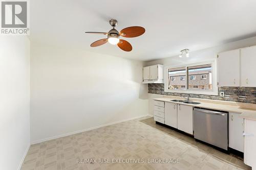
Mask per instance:
[[[120,35],[126,38],[133,38],[144,34],[144,32],[145,29],[143,27],[134,26],[122,29]]]

